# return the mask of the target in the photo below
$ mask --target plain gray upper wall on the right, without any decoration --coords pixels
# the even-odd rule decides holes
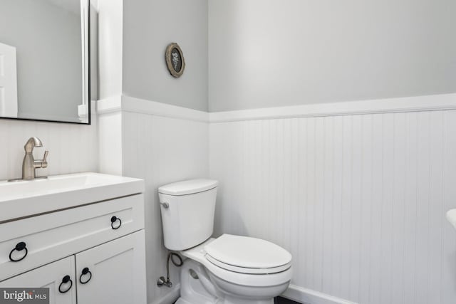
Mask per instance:
[[[456,92],[455,0],[209,0],[209,111]]]

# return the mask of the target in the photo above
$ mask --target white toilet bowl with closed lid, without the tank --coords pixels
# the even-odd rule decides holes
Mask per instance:
[[[232,252],[217,252],[224,246],[231,247]],[[215,297],[219,301],[209,303],[274,303],[272,299],[283,293],[291,280],[291,255],[283,248],[261,239],[224,234],[218,239],[209,239],[195,248],[180,253],[192,261],[185,261],[190,268],[182,270],[182,290],[192,290],[192,286],[198,284],[191,282],[195,281],[195,278],[192,277],[190,270],[195,271],[198,275],[196,280],[207,280],[210,281],[207,285],[214,285],[214,288],[207,288],[207,285],[204,287],[207,282],[199,282],[203,286],[199,295]],[[222,255],[218,255],[219,253]],[[267,258],[259,256],[256,261],[252,259],[255,255],[264,253]],[[224,263],[217,258],[228,258],[236,263]],[[196,290],[192,291],[195,293]],[[187,295],[187,298],[191,296]]]

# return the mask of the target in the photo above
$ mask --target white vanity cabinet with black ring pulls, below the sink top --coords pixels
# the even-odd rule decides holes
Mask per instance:
[[[48,287],[58,304],[145,304],[145,286],[143,194],[0,224],[1,288]]]

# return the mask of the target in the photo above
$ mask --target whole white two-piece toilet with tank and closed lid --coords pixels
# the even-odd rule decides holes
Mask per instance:
[[[218,182],[193,179],[158,189],[165,246],[187,257],[177,304],[271,304],[291,280],[291,254],[269,241],[211,238]]]

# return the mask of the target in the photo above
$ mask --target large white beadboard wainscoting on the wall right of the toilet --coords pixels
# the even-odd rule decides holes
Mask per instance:
[[[211,114],[215,236],[288,249],[284,296],[299,302],[454,303],[456,231],[445,212],[456,208],[456,98],[447,98],[448,110],[427,108],[428,97],[372,112]]]

